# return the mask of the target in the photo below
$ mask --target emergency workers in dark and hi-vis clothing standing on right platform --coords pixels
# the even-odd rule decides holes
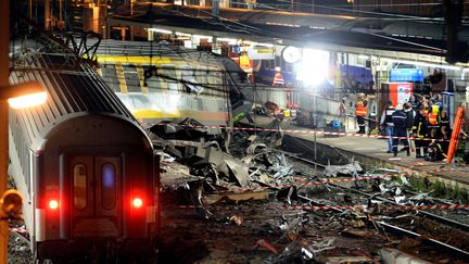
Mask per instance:
[[[388,102],[380,120],[381,128],[388,138],[388,153],[397,156],[400,151],[405,151],[407,156],[410,156],[410,151],[415,150],[417,159],[445,159],[449,147],[451,127],[449,116],[443,110],[440,95],[434,98],[419,97],[418,100],[411,97],[404,104],[397,104],[395,108],[393,105],[392,101]],[[355,115],[359,127],[357,134],[365,134],[367,101],[364,97],[355,104]],[[400,141],[404,146],[401,150]]]

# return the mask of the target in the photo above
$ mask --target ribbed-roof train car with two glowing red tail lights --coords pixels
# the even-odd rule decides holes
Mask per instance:
[[[18,66],[20,65],[20,66]],[[10,81],[38,80],[45,105],[10,112],[10,174],[37,260],[151,257],[159,163],[147,134],[75,58],[22,58]]]

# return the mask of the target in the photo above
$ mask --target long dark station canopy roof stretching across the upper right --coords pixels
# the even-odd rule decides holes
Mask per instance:
[[[248,9],[220,9],[218,15],[213,15],[207,7],[167,3],[139,3],[131,13],[128,5],[123,7],[109,22],[407,60],[438,62],[446,55],[446,26],[441,18]],[[461,50],[467,50],[468,40],[469,27],[461,26],[458,43]]]

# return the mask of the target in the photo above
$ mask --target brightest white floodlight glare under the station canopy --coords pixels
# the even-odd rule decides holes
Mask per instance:
[[[321,84],[329,73],[329,52],[324,50],[303,49],[303,61],[297,72],[297,79],[306,85]]]

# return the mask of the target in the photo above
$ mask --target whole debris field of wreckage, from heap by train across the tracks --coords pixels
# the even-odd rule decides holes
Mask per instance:
[[[325,166],[320,177],[312,169],[299,172],[290,158],[300,153],[277,148],[283,136],[280,122],[274,120],[268,127],[272,129],[262,133],[230,129],[232,133],[227,137],[226,130],[207,128],[193,120],[150,128],[150,137],[162,156],[163,194],[172,197],[163,200],[173,200],[172,205],[190,205],[199,219],[211,221],[212,228],[214,225],[227,228],[228,224],[262,234],[251,250],[269,252],[264,263],[375,263],[383,257],[395,259],[389,255],[403,255],[390,247],[394,243],[377,227],[373,212],[364,209],[379,206],[383,199],[418,205],[427,201],[427,194],[406,192],[409,183],[404,176],[345,183],[383,199],[334,190],[329,185],[308,185],[342,175],[359,177],[364,169],[348,159],[348,164]],[[377,169],[366,176],[383,174],[398,175],[398,172]],[[307,213],[283,208],[301,204],[363,204],[364,209]],[[266,215],[261,221],[264,224],[254,226],[259,222],[254,218],[254,209]],[[382,217],[377,215],[376,219]],[[356,244],[351,247],[350,239],[359,242],[354,241]]]

